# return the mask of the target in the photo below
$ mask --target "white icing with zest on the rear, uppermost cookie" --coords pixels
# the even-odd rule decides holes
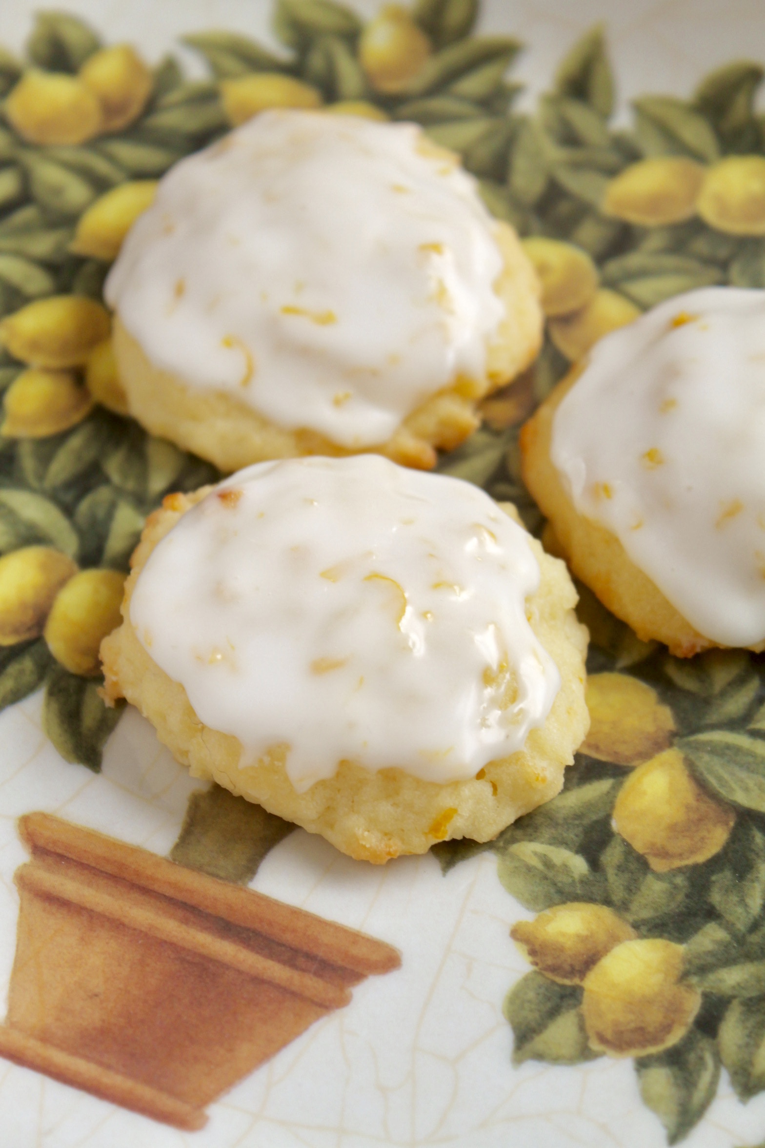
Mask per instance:
[[[502,258],[414,124],[266,111],[178,163],[106,296],[157,366],[349,449],[483,380]]]

